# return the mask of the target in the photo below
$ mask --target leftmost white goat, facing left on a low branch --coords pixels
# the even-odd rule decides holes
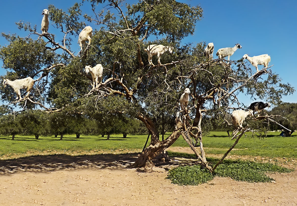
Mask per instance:
[[[10,85],[13,88],[13,90],[15,91],[15,93],[17,93],[16,100],[18,100],[19,97],[21,100],[22,96],[20,95],[20,89],[27,88],[28,94],[26,96],[29,96],[30,90],[33,88],[34,82],[35,82],[34,79],[32,79],[31,77],[26,77],[24,79],[17,79],[14,81],[11,81],[9,79],[4,79],[3,86],[5,88],[7,85]]]

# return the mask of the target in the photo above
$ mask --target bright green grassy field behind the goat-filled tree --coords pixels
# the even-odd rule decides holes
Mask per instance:
[[[237,150],[229,154],[251,155],[267,157],[297,157],[297,135],[292,137],[279,137],[280,132],[270,132],[264,139],[241,137],[236,145]],[[166,137],[166,135],[165,135]],[[76,139],[75,135],[66,135],[63,140],[54,137],[40,137],[35,140],[33,136],[0,137],[0,156],[7,154],[21,155],[28,151],[42,153],[44,151],[57,151],[71,153],[74,151],[91,150],[139,150],[146,142],[147,135],[128,135],[123,138],[121,134],[112,135],[110,140],[98,135],[81,136]],[[203,146],[206,153],[223,154],[233,144],[226,132],[210,132],[203,137]],[[187,143],[180,137],[173,146],[188,147]]]

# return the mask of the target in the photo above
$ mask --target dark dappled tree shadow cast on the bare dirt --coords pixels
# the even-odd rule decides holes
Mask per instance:
[[[139,153],[96,154],[71,156],[67,154],[36,155],[18,159],[0,160],[0,175],[17,172],[53,172],[75,169],[125,169],[138,158]],[[159,156],[153,160],[156,167],[172,168],[174,165],[200,164],[190,158],[172,157],[170,161],[160,161]]]

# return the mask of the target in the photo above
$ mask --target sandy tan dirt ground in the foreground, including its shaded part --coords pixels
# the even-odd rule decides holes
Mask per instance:
[[[296,161],[278,162],[295,171],[269,174],[275,183],[215,177],[199,186],[179,186],[165,179],[167,170],[181,163],[195,164],[195,160],[156,161],[152,172],[143,172],[128,169],[136,158],[137,153],[101,153],[2,159],[0,205],[297,205]]]

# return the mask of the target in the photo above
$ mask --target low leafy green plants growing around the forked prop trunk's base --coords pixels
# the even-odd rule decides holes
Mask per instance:
[[[218,159],[208,159],[210,164],[214,164]],[[223,161],[215,170],[215,175],[210,174],[206,169],[201,169],[200,165],[180,166],[170,169],[167,179],[171,183],[180,185],[198,185],[206,183],[214,178],[214,176],[230,177],[236,181],[247,182],[269,182],[274,180],[268,177],[266,172],[291,172],[291,169],[277,166],[270,163],[258,163],[250,161]]]

